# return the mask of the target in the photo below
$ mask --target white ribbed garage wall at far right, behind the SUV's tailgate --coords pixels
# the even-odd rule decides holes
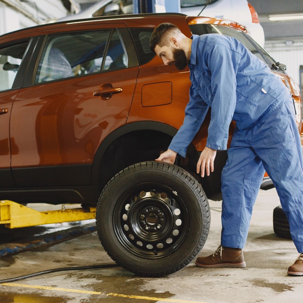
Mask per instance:
[[[299,68],[303,65],[303,38],[301,40],[265,41],[265,50],[287,66],[286,72],[299,84]]]

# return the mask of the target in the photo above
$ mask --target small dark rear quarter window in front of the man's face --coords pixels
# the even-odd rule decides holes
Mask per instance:
[[[155,57],[155,52],[149,49],[149,39],[153,28],[130,28],[132,38],[135,42],[135,47],[139,57],[140,65],[147,63]]]

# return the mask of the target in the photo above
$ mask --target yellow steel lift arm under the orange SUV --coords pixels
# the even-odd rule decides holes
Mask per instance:
[[[0,201],[0,224],[5,224],[8,228],[81,221],[95,217],[95,207],[36,211],[13,201]]]

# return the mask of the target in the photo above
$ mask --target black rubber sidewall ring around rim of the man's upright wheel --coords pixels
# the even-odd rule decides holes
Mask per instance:
[[[104,192],[102,199],[98,203],[100,207],[97,219],[98,229],[100,230],[100,240],[108,249],[108,253],[113,259],[120,261],[131,271],[140,271],[146,273],[158,273],[159,271],[170,271],[172,267],[181,266],[194,253],[206,226],[202,219],[201,203],[205,202],[203,194],[197,198],[193,189],[188,185],[188,175],[186,173],[179,176],[155,168],[141,168],[125,173],[116,178]],[[183,177],[183,178],[182,178]],[[189,228],[187,235],[176,251],[170,255],[157,259],[142,258],[127,251],[116,236],[113,225],[113,214],[115,201],[117,201],[125,191],[139,183],[155,182],[164,184],[174,191],[180,192],[180,197],[185,203],[189,217]],[[199,201],[200,198],[200,201]],[[207,202],[206,202],[207,203]]]

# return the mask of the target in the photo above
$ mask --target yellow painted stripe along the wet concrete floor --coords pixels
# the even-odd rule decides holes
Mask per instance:
[[[59,287],[50,287],[50,286],[39,286],[39,285],[28,285],[28,284],[18,284],[18,283],[2,283],[0,285],[18,286],[18,287],[35,288],[35,289],[47,289],[47,290],[56,290],[56,291],[66,291],[66,292],[77,292],[80,294],[90,294],[90,295],[102,295],[103,294],[103,295],[107,295],[107,296],[115,296],[115,297],[129,298],[129,299],[141,299],[141,300],[149,300],[149,301],[160,301],[160,302],[207,303],[207,302],[203,302],[203,301],[166,299],[166,298],[155,298],[155,297],[145,297],[145,296],[135,296],[135,295],[123,295],[123,294],[115,294],[115,293],[105,294],[100,291],[89,291],[89,290],[69,289],[69,288],[59,288]]]

